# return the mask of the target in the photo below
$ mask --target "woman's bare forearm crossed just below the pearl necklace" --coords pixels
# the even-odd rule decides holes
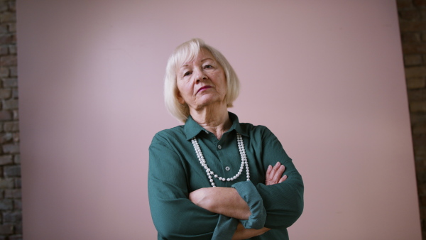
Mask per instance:
[[[206,187],[190,193],[190,200],[197,206],[227,217],[249,219],[249,205],[232,187]]]

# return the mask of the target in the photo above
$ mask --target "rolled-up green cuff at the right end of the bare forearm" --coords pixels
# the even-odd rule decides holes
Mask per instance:
[[[261,229],[266,221],[266,209],[258,190],[251,181],[237,182],[232,185],[244,201],[249,204],[251,215],[248,220],[241,220],[246,229]]]

